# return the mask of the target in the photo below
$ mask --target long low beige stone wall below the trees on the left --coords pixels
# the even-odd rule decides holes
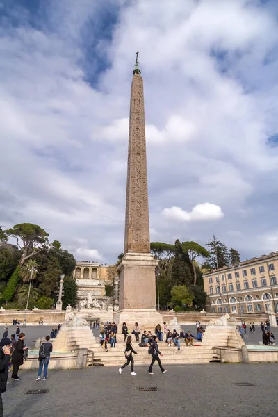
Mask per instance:
[[[0,324],[11,325],[15,318],[17,321],[23,322],[25,317],[24,310],[6,310],[0,311]],[[27,325],[38,325],[39,321],[44,322],[44,325],[58,325],[65,321],[65,311],[56,310],[35,310],[27,311],[26,323]]]

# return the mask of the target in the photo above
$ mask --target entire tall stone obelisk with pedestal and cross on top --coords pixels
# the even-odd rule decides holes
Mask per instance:
[[[131,83],[124,257],[117,268],[120,295],[115,320],[120,325],[126,322],[130,328],[138,322],[153,330],[151,326],[161,322],[156,311],[157,265],[149,245],[144,91],[137,53]]]

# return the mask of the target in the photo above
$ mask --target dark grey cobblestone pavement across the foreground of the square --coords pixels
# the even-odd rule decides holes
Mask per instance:
[[[163,361],[163,357],[161,358]],[[136,357],[135,357],[136,361]],[[154,366],[50,370],[47,382],[36,382],[35,371],[20,371],[19,382],[9,379],[3,394],[6,417],[277,417],[277,363]],[[238,386],[236,384],[252,384]],[[140,392],[139,387],[159,391]],[[26,395],[28,389],[49,389]]]

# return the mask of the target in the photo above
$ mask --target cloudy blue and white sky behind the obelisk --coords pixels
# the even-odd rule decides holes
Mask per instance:
[[[0,0],[0,224],[115,262],[140,51],[151,240],[278,250],[277,16],[275,0]]]

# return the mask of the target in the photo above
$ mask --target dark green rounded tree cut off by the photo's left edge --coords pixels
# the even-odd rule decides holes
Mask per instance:
[[[19,263],[21,254],[15,245],[0,243],[0,281],[8,281]]]

